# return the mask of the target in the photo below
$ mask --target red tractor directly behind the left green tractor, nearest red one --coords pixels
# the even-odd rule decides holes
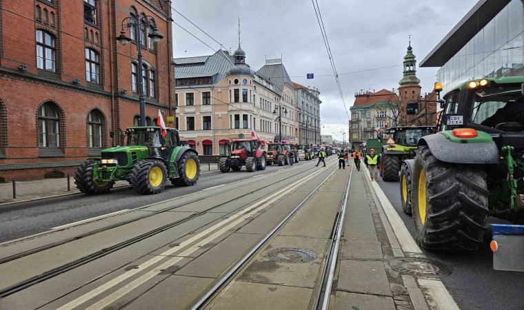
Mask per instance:
[[[265,169],[265,151],[261,148],[260,141],[255,139],[233,140],[230,144],[229,156],[220,158],[219,169],[221,172],[240,171],[242,166],[248,172]]]

